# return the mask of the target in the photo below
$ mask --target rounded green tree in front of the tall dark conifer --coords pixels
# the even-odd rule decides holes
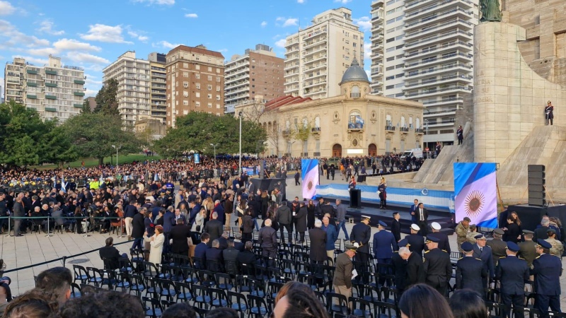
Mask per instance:
[[[122,128],[119,116],[103,112],[82,113],[67,119],[62,125],[80,157],[98,158],[103,164],[104,157],[116,153],[114,146],[122,146],[121,153],[137,153],[141,143],[131,127]]]

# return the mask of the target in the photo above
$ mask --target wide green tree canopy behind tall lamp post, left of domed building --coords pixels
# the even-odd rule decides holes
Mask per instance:
[[[239,151],[240,119],[230,115],[215,116],[205,112],[190,112],[177,117],[175,128],[170,128],[166,136],[156,141],[158,153],[176,157],[190,151],[212,155],[217,144],[216,154],[232,154]],[[247,120],[242,121],[242,153],[262,153],[265,151],[267,137],[262,127]]]

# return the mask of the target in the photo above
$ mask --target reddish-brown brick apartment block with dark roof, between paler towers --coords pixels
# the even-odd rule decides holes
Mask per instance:
[[[167,53],[167,126],[189,112],[224,114],[224,56],[204,45]]]

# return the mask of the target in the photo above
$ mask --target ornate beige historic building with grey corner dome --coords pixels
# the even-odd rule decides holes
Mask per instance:
[[[422,147],[422,103],[369,95],[366,72],[355,59],[340,90],[330,98],[287,95],[267,102],[259,119],[268,139],[263,155],[352,157]]]

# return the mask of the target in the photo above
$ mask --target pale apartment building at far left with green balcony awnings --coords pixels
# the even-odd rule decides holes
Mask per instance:
[[[33,108],[44,120],[64,122],[81,112],[85,79],[81,67],[63,65],[59,57],[50,55],[44,66],[16,57],[4,69],[6,101]]]

